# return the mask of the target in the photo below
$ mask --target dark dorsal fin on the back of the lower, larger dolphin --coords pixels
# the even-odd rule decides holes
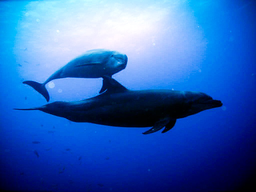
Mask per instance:
[[[100,90],[100,93],[106,90],[106,94],[108,93],[118,93],[118,92],[124,92],[127,91],[128,89],[122,86],[119,82],[114,80],[113,78],[109,76],[102,76],[103,78],[103,85],[102,89]]]

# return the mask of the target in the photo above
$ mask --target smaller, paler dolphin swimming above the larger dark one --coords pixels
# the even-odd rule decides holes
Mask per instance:
[[[44,83],[34,81],[24,81],[38,91],[47,102],[50,100],[45,85],[54,79],[74,77],[74,78],[101,78],[103,76],[112,77],[113,74],[126,68],[127,56],[117,51],[94,49],[85,52],[83,55],[68,62],[65,66],[52,74]],[[106,90],[104,84],[100,93]]]

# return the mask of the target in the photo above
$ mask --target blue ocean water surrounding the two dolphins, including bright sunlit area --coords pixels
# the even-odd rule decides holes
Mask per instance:
[[[9,191],[236,191],[255,186],[253,0],[0,2],[0,188]],[[223,106],[174,128],[75,123],[40,111],[44,82],[83,52],[118,50],[131,90],[205,92]],[[50,102],[96,96],[102,79],[65,78]],[[37,143],[38,141],[40,143]],[[36,154],[37,153],[37,154]]]

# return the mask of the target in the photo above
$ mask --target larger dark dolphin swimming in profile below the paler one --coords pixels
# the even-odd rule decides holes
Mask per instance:
[[[222,106],[221,101],[202,92],[173,90],[128,90],[116,80],[104,76],[106,92],[86,100],[58,101],[40,110],[74,122],[90,122],[118,127],[150,127],[143,134],[170,130],[176,119]]]

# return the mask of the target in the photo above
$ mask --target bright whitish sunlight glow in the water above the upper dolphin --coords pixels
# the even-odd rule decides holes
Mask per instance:
[[[30,64],[19,71],[24,79],[43,82],[58,68],[94,48],[127,54],[124,75],[151,75],[141,74],[148,68],[144,61],[150,58],[152,69],[165,68],[158,70],[156,78],[169,71],[172,81],[178,81],[201,72],[199,61],[206,40],[194,16],[187,12],[186,2],[152,1],[134,7],[132,2],[38,1],[28,3],[22,14],[14,52],[18,63],[26,60]],[[48,87],[54,88],[54,83]]]

